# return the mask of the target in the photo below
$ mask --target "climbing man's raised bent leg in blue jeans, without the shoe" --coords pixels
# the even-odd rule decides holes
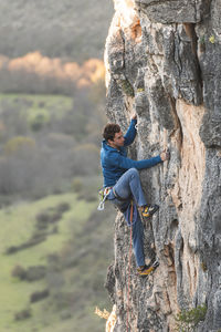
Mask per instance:
[[[133,195],[138,206],[147,205],[147,200],[141,188],[139,173],[136,168],[130,168],[125,172],[114,186],[114,189],[122,198],[127,199]]]

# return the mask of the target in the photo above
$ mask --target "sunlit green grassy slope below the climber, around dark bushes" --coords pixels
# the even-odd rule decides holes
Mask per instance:
[[[69,204],[70,209],[62,215],[62,219],[57,224],[57,234],[49,236],[45,241],[39,243],[38,246],[30,247],[13,255],[6,255],[6,250],[10,246],[20,246],[30,239],[31,235],[35,230],[35,217],[39,212],[49,208],[55,208],[61,203]],[[97,203],[95,201],[85,203],[84,200],[77,200],[75,194],[63,194],[49,196],[33,203],[21,201],[14,206],[10,206],[0,210],[1,332],[87,331],[87,326],[88,329],[91,326],[90,331],[103,331],[101,328],[104,325],[104,322],[101,322],[99,319],[96,319],[93,311],[96,304],[99,305],[99,301],[104,302],[104,305],[106,303],[103,294],[104,290],[97,290],[97,298],[95,294],[96,288],[103,288],[103,284],[98,283],[101,277],[102,280],[104,280],[106,268],[110,261],[106,261],[102,255],[96,257],[96,255],[98,255],[97,248],[95,247],[94,253],[93,248],[94,241],[97,242],[99,236],[103,238],[105,235],[105,237],[107,236],[109,240],[110,237],[108,235],[109,230],[107,230],[102,222],[99,222],[97,226],[98,235],[96,234],[95,238],[91,236],[91,232],[87,234],[85,231],[87,229],[87,224],[90,222],[90,216],[95,210],[96,205]],[[92,222],[96,224],[96,221]],[[104,240],[106,240],[106,238]],[[69,308],[66,304],[62,307],[61,301],[56,301],[59,290],[56,287],[54,288],[54,286],[52,286],[50,289],[50,297],[46,300],[42,300],[33,304],[30,303],[31,293],[49,287],[49,278],[53,277],[55,279],[54,276],[56,273],[53,271],[51,272],[51,276],[48,274],[48,279],[44,278],[34,282],[21,281],[11,274],[12,269],[18,264],[24,268],[38,264],[46,266],[49,263],[49,255],[54,252],[59,253],[61,258],[61,264],[62,261],[70,259],[72,249],[77,249],[81,252],[83,249],[86,250],[86,248],[90,250],[90,252],[88,255],[85,255],[83,260],[76,259],[75,266],[73,266],[71,269],[69,268],[64,271],[61,271],[60,273],[60,279],[62,278],[64,280],[60,288],[61,293],[64,294],[69,293],[70,291],[72,294],[78,293],[78,297],[83,297],[83,301],[80,301],[77,298],[73,298],[73,303],[71,303],[73,305],[71,305],[71,308]],[[108,248],[109,247],[107,246],[107,252],[109,251]],[[76,251],[73,252],[73,255],[76,256]],[[110,253],[108,255],[112,256]],[[91,266],[90,272],[85,270],[85,267],[88,266]],[[97,271],[97,269],[99,270]],[[88,276],[88,273],[92,273],[92,276]],[[96,280],[97,278],[98,281]],[[91,284],[91,281],[88,282],[90,279],[94,280]],[[86,284],[88,284],[87,290]],[[90,287],[92,287],[92,289],[90,289]],[[81,288],[83,288],[82,291]],[[69,314],[66,314],[66,311],[62,310],[63,308],[65,310],[69,309]],[[31,309],[31,318],[22,321],[15,321],[14,314],[24,309]],[[83,319],[82,315],[86,315],[86,320]],[[83,321],[83,328],[77,330],[76,326],[78,326],[80,322]],[[94,330],[93,325],[95,328]]]

